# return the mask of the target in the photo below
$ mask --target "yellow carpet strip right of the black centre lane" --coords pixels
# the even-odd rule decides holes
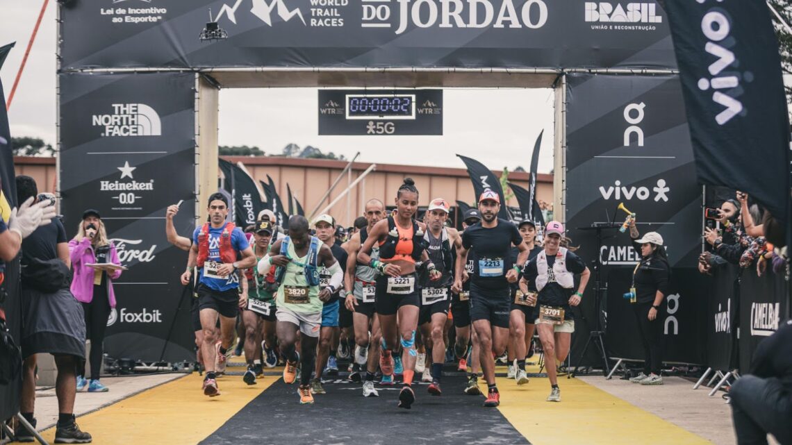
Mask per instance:
[[[527,371],[539,372],[539,368]],[[506,368],[498,367],[497,372],[505,373]],[[558,387],[562,401],[554,403],[545,401],[550,394],[547,378],[531,378],[524,386],[517,386],[513,379],[498,378],[501,413],[533,445],[710,443],[578,378],[562,376]],[[482,391],[486,391],[485,383]]]

